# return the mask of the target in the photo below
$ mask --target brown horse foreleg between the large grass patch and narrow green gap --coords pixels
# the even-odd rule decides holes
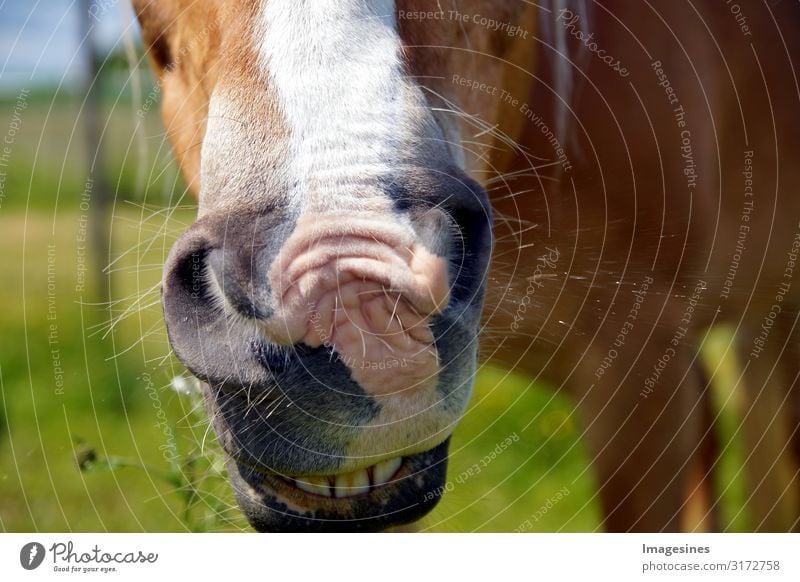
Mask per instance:
[[[694,373],[692,347],[671,344],[677,321],[662,320],[655,329],[638,324],[599,380],[598,364],[611,345],[608,336],[581,367],[580,382],[590,387],[580,408],[607,531],[681,527],[690,460],[699,441],[703,386]],[[648,388],[646,381],[665,354],[669,362]]]

